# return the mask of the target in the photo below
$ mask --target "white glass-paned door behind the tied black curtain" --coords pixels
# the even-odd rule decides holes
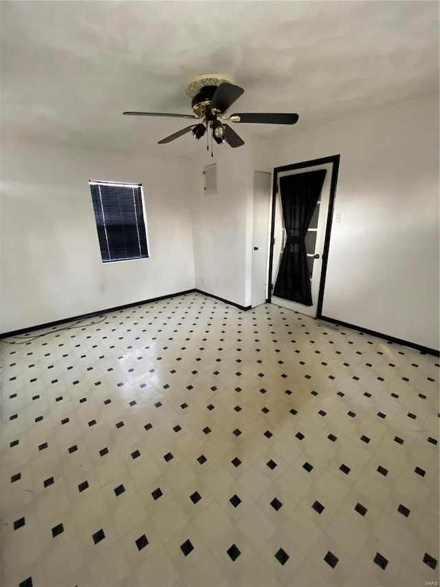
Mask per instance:
[[[275,204],[274,252],[272,265],[272,284],[275,284],[286,239],[279,180],[285,175],[307,173],[307,171],[318,171],[318,169],[325,169],[327,173],[325,174],[321,195],[318,203],[316,204],[316,209],[311,219],[309,229],[307,230],[307,236],[305,237],[307,260],[309,262],[309,270],[311,275],[311,299],[313,301],[313,305],[304,306],[302,303],[289,301],[288,299],[283,299],[274,295],[272,295],[271,300],[272,303],[275,303],[277,306],[283,306],[283,308],[294,310],[295,312],[300,312],[301,314],[307,314],[307,316],[313,317],[316,317],[316,311],[318,308],[318,295],[322,272],[322,251],[324,249],[325,228],[327,226],[327,214],[329,212],[331,172],[333,169],[332,162],[316,165],[313,167],[303,167],[303,169],[294,169],[292,171],[282,171],[281,173],[278,173],[278,191],[276,194]]]

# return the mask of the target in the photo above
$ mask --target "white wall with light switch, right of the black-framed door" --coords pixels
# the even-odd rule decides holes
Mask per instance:
[[[340,153],[322,314],[439,348],[439,96],[278,142],[276,166]]]

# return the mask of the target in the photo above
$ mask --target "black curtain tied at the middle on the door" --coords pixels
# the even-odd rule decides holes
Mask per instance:
[[[325,169],[280,178],[287,242],[274,295],[311,306],[310,273],[305,237],[325,178]]]

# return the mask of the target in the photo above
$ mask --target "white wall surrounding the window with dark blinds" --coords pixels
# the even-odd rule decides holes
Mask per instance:
[[[89,179],[144,187],[151,258],[102,264]],[[2,143],[0,332],[194,288],[188,163]]]

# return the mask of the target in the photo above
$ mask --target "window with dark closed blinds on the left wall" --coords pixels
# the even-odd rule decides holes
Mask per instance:
[[[145,259],[142,185],[89,181],[103,263]]]

